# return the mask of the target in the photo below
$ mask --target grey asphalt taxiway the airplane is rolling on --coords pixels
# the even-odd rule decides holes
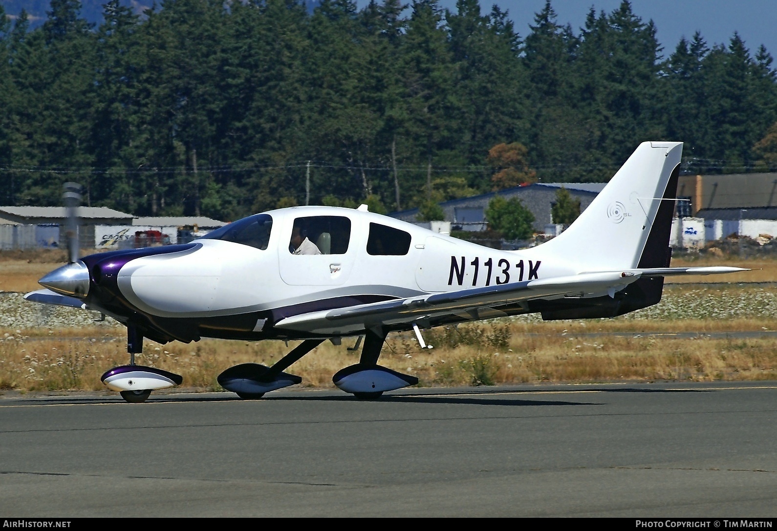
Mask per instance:
[[[0,397],[0,515],[775,516],[777,382]]]

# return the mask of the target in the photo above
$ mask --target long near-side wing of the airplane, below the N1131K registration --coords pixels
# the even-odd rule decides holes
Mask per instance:
[[[281,319],[276,328],[312,333],[347,334],[379,325],[412,323],[424,318],[457,314],[469,319],[497,317],[505,304],[535,299],[596,296],[616,291],[639,279],[639,272],[591,272],[552,279],[524,280],[496,286],[433,293],[373,304],[315,311]],[[483,311],[495,311],[484,316]]]

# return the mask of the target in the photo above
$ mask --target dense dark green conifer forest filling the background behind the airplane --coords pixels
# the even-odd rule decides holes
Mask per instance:
[[[104,22],[0,7],[0,203],[235,220],[390,212],[523,182],[604,182],[647,140],[683,172],[777,168],[772,56],[737,33],[659,43],[629,2],[528,34],[478,0],[162,0]],[[309,184],[308,184],[309,183]]]

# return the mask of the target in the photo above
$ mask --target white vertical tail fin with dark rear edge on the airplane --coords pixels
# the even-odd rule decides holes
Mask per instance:
[[[542,245],[579,270],[666,267],[681,142],[643,142],[558,237]]]

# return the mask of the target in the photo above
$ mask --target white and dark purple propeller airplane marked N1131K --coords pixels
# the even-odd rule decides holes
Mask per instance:
[[[78,259],[74,216],[71,263],[40,279],[47,289],[26,299],[99,311],[124,324],[130,364],[107,371],[103,383],[130,402],[183,380],[134,364],[144,338],[202,337],[303,340],[271,367],[244,363],[219,375],[225,389],[258,398],[299,384],[301,377],[284,371],[326,339],[357,337],[358,345],[364,336],[359,363],[333,382],[376,398],[418,383],[378,365],[390,331],[413,330],[424,347],[420,328],[462,321],[532,312],[545,320],[615,317],[657,304],[664,276],[746,270],[669,267],[681,153],[679,142],[640,144],[563,234],[520,251],[436,234],[364,205],[296,206],[246,217],[186,245]]]

